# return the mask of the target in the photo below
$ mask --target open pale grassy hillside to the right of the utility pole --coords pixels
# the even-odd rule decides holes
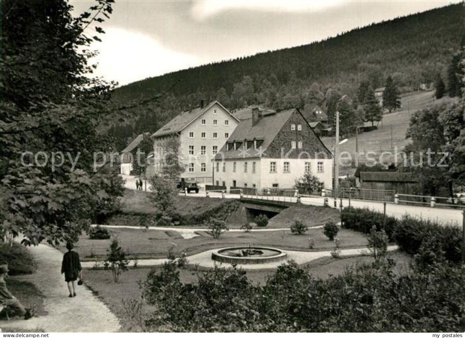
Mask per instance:
[[[447,101],[454,101],[445,97],[443,99],[435,99],[433,91],[413,92],[403,95],[401,98],[402,108],[394,113],[385,114],[382,123],[379,122],[378,130],[359,134],[359,152],[380,152],[392,151],[393,147],[399,149],[399,152],[407,145],[408,139],[405,139],[410,124],[410,117],[418,110],[431,107],[435,104]],[[371,123],[365,123],[366,126],[371,126]],[[376,125],[376,124],[375,124]],[[392,147],[391,147],[391,125],[392,125]],[[332,149],[334,138],[322,138],[323,143]],[[346,143],[340,146],[341,152],[349,152],[355,163],[355,135],[349,137]],[[360,161],[364,156],[359,156]],[[385,157],[385,161],[392,157]],[[345,172],[341,167],[341,175]]]

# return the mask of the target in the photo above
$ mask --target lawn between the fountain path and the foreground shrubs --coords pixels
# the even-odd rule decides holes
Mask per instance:
[[[403,252],[391,252],[390,257],[393,258],[397,265],[394,272],[402,273],[407,268],[411,257]],[[315,278],[326,279],[330,275],[340,275],[347,267],[350,267],[357,262],[371,262],[372,258],[367,256],[347,257],[347,258],[319,258],[313,262],[306,264],[309,273]],[[154,267],[153,269],[160,269]],[[105,270],[86,270],[85,280],[93,292],[104,302],[110,310],[120,319],[121,331],[139,331],[140,328],[134,323],[133,316],[130,316],[125,311],[124,301],[141,299],[141,289],[139,281],[144,281],[151,268],[130,269],[123,272],[118,283],[114,283],[110,271]],[[206,268],[200,269],[201,271]],[[247,272],[247,277],[252,279],[254,283],[260,285],[266,284],[268,276],[272,275],[274,270],[253,270]],[[192,266],[187,266],[179,270],[179,277],[182,283],[196,283],[198,278]],[[145,305],[144,313],[150,313],[154,310],[153,306]]]

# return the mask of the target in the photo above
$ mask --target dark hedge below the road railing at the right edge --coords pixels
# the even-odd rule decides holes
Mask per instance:
[[[382,212],[368,208],[345,208],[341,213],[342,227],[364,233],[369,233],[372,225],[381,230],[383,219]],[[430,249],[436,251],[439,247],[448,261],[459,263],[461,260],[462,233],[458,227],[408,215],[402,219],[386,216],[385,232],[390,241],[396,242],[402,250],[412,255],[417,254],[420,248],[434,245]]]

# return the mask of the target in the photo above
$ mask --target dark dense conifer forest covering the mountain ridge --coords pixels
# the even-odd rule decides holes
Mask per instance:
[[[342,95],[357,99],[360,83],[384,86],[390,76],[400,92],[430,86],[439,78],[452,86],[448,67],[465,33],[464,4],[354,29],[305,46],[259,53],[190,68],[117,88],[113,99],[127,102],[161,94],[158,103],[134,111],[135,120],[110,130],[119,146],[137,133],[154,132],[200,99],[226,107],[322,106],[331,110]],[[449,84],[448,82],[451,82]],[[137,120],[138,119],[138,120]]]

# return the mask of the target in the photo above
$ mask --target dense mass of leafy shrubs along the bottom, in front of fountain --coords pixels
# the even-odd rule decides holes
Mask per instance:
[[[326,280],[289,261],[265,286],[236,267],[197,271],[181,283],[169,261],[147,276],[144,298],[157,310],[150,331],[459,331],[465,274],[458,266],[413,266],[398,275],[393,262],[359,264]],[[193,320],[192,318],[195,318]]]

